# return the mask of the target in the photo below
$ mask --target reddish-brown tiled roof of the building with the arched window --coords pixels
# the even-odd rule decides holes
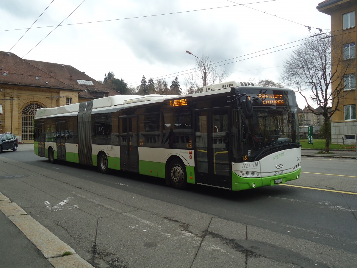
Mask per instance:
[[[24,60],[9,54],[0,51],[0,65],[4,66],[1,71],[8,71],[6,75],[0,74],[0,83],[75,90],[80,92],[80,98],[93,98],[93,92],[119,95],[71,65]],[[82,80],[81,84],[77,80]]]

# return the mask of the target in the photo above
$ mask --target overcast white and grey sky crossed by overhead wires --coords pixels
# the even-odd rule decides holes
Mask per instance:
[[[196,60],[189,50],[225,64],[227,81],[278,82],[300,40],[330,31],[330,16],[316,9],[322,1],[11,0],[0,5],[0,50],[95,80],[113,71],[129,86],[143,75],[169,85],[177,76],[183,89]]]

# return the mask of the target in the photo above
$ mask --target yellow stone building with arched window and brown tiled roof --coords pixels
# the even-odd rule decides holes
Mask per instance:
[[[39,108],[118,95],[115,90],[70,65],[24,60],[0,51],[0,133],[33,143],[33,120]]]

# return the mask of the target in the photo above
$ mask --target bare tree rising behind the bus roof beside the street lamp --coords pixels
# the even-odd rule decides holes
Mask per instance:
[[[193,73],[185,75],[185,85],[187,87],[192,86],[196,93],[203,89],[205,71],[207,85],[221,83],[228,77],[226,68],[218,69],[208,55],[202,55],[200,59],[196,59],[195,67],[192,70],[194,70]]]

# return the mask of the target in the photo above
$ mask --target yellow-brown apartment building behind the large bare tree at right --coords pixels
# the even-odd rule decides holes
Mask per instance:
[[[331,118],[331,133],[333,144],[355,144],[357,133],[356,121],[356,8],[357,0],[326,0],[318,4],[318,11],[331,16],[331,59],[332,70],[348,66],[343,78],[332,82],[332,89],[337,87],[339,81],[343,81],[345,95],[340,99],[338,109]],[[343,54],[342,64],[338,62]],[[348,65],[346,65],[348,63]],[[334,66],[335,64],[335,66]],[[334,105],[334,104],[333,104]]]

